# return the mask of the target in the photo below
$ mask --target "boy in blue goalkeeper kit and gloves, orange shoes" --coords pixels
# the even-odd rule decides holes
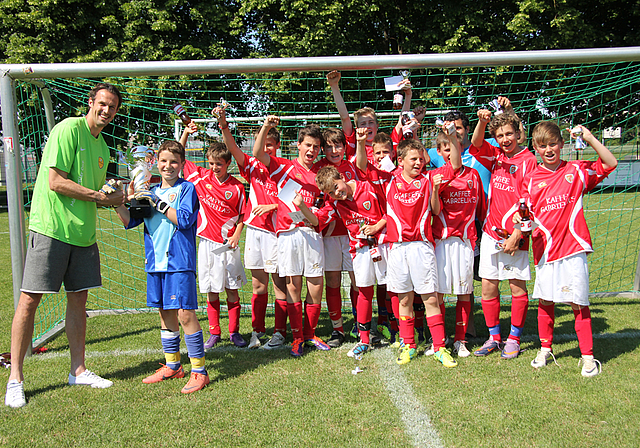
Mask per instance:
[[[147,306],[160,311],[160,337],[166,365],[143,383],[157,383],[183,378],[180,363],[180,328],[184,330],[187,352],[191,360],[191,377],[182,393],[196,392],[209,384],[204,368],[204,340],[196,317],[196,220],[198,196],[191,182],[179,178],[185,163],[184,147],[166,141],[158,150],[158,171],[162,183],[150,191],[136,193],[137,199],[148,199],[154,208],[144,218],[145,270],[147,272]],[[131,191],[130,191],[131,192]],[[116,209],[127,229],[143,223],[132,218],[129,209]]]

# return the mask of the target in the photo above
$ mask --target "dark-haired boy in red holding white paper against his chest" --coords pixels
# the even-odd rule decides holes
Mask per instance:
[[[269,155],[263,147],[254,146],[253,155],[268,169],[276,182],[278,192],[291,188],[302,195],[308,207],[312,207],[320,190],[315,184],[318,168],[315,159],[324,145],[322,131],[315,124],[298,132],[298,157],[295,160]],[[308,221],[296,220],[291,213],[299,211],[292,202],[278,198],[276,235],[278,236],[278,272],[286,277],[287,312],[293,334],[291,355],[302,356],[304,343],[320,350],[330,347],[315,335],[322,304],[322,274],[324,249],[322,235]],[[294,213],[295,217],[295,213]],[[307,280],[305,319],[302,316],[302,276]]]

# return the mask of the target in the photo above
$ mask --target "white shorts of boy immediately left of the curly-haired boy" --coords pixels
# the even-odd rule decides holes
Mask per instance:
[[[438,260],[438,292],[442,294],[473,293],[473,247],[468,239],[450,237],[436,240]]]

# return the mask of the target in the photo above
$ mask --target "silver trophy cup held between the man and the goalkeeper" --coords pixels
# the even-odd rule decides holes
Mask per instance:
[[[134,193],[149,191],[151,181],[151,168],[156,161],[153,149],[146,146],[135,146],[121,155],[121,162],[129,167]],[[152,207],[147,199],[131,199],[129,212],[132,218],[148,218],[151,216]]]

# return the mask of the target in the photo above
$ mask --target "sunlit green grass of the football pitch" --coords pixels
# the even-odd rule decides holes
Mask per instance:
[[[622,209],[635,208],[634,196],[603,193],[585,199],[587,207],[596,210],[587,215],[590,226],[607,226],[607,232],[595,238],[592,281],[595,256],[609,263],[597,281],[626,285],[625,278],[633,278],[637,217]],[[7,214],[0,213],[0,257],[5,260],[10,258],[7,229]],[[124,238],[124,231],[114,226],[114,235],[120,232]],[[120,245],[119,240],[113,247]],[[609,250],[612,246],[616,249]],[[633,263],[621,261],[625,247]],[[137,256],[134,252],[131,260]],[[115,266],[127,266],[130,259],[123,253],[112,257],[114,271]],[[2,352],[9,350],[13,315],[10,269],[10,263],[0,265],[0,287],[5,291],[0,302]],[[144,291],[136,282],[132,280],[132,289]],[[56,299],[64,304],[63,295]],[[363,373],[352,375],[354,361],[346,351],[353,342],[292,359],[286,350],[240,350],[225,341],[207,354],[212,384],[192,396],[180,394],[184,380],[141,382],[163,362],[156,314],[94,317],[88,323],[87,364],[113,380],[114,386],[109,390],[66,386],[68,343],[62,334],[47,345],[46,354],[27,360],[29,405],[20,410],[2,407],[0,446],[414,446],[388,392],[393,378],[411,385],[447,447],[639,446],[638,300],[593,299],[594,351],[603,372],[590,379],[580,376],[573,314],[567,306],[556,311],[554,351],[561,367],[530,366],[539,347],[536,314],[531,304],[522,345],[526,351],[519,358],[470,357],[460,359],[456,369],[445,369],[424,356],[398,368],[392,361],[395,352],[381,349],[359,362]],[[453,309],[447,308],[449,333],[453,317]],[[508,306],[503,306],[501,317],[504,332]],[[350,328],[350,316],[346,318]],[[268,325],[272,319],[268,317]],[[206,328],[204,317],[201,324]],[[476,325],[477,346],[487,337],[480,312]],[[248,317],[241,319],[241,331],[245,335],[251,331]],[[318,334],[326,338],[329,333],[330,323],[323,314]],[[183,361],[189,370],[186,355]],[[8,374],[0,371],[0,387]],[[410,420],[409,425],[419,423]]]

